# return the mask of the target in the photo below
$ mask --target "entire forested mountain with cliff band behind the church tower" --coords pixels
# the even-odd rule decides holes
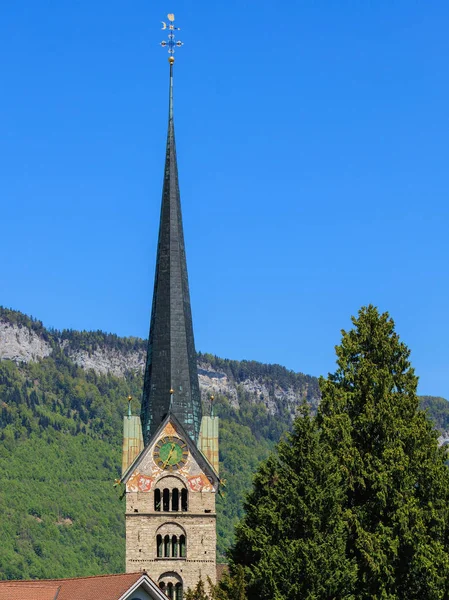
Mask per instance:
[[[140,410],[144,354],[137,338],[49,331],[0,309],[0,578],[123,571],[124,502],[113,482],[129,394]],[[198,360],[205,404],[213,391],[221,417],[222,556],[252,473],[319,389],[278,365]],[[449,404],[424,402],[445,431]]]

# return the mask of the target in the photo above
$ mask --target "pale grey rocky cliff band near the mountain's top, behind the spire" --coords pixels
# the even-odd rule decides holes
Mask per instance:
[[[101,375],[124,377],[130,371],[143,372],[146,351],[141,340],[136,344],[137,349],[120,349],[101,343],[86,349],[64,339],[58,332],[47,335],[46,330],[43,331],[45,335],[26,325],[0,319],[0,360],[37,361],[50,356],[55,348],[61,348],[76,365]],[[47,341],[44,338],[48,336]],[[203,400],[208,401],[212,394],[222,395],[236,409],[239,408],[239,394],[243,392],[251,402],[264,405],[270,414],[276,414],[282,406],[293,417],[298,403],[307,394],[305,386],[282,386],[263,377],[232,376],[225,369],[214,368],[207,360],[198,361],[198,376]]]

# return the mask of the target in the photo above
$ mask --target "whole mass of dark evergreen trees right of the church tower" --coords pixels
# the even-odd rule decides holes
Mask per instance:
[[[317,416],[303,408],[254,479],[231,550],[249,600],[449,597],[446,451],[389,315],[353,324]]]

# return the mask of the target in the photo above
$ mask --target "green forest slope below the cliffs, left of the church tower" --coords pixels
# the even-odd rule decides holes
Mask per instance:
[[[124,508],[112,484],[126,395],[140,386],[58,353],[0,363],[0,578],[123,571]]]

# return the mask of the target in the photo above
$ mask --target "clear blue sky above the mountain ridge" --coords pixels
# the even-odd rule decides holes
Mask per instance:
[[[374,303],[449,398],[447,0],[2,2],[0,304],[147,336],[167,12],[197,349],[326,374]]]

